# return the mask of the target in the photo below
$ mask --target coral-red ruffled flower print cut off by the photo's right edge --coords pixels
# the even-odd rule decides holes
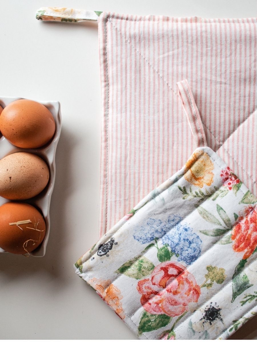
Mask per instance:
[[[257,206],[249,206],[240,215],[232,229],[231,239],[235,252],[245,252],[243,259],[248,259],[257,246]]]

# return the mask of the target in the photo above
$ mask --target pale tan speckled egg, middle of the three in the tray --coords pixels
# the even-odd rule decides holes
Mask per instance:
[[[40,157],[27,152],[0,160],[0,196],[27,199],[38,195],[49,181],[49,169]]]

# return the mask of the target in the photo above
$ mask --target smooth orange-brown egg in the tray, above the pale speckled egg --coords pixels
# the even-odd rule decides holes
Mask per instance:
[[[0,131],[17,147],[37,148],[52,139],[55,122],[51,112],[41,103],[17,100],[3,109]]]

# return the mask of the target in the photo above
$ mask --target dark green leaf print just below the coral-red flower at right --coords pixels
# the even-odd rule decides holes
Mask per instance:
[[[245,273],[242,272],[244,269],[244,265],[246,264],[247,259],[242,259],[239,264],[235,268],[235,273],[232,277],[232,300],[231,303],[234,302],[237,296],[247,290],[249,287],[253,286],[250,284],[249,278]]]

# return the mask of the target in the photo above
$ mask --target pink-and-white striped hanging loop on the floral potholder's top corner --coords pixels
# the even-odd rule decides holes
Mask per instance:
[[[177,82],[178,95],[181,99],[189,127],[193,134],[196,147],[207,146],[203,122],[196,106],[192,90],[187,80]]]

